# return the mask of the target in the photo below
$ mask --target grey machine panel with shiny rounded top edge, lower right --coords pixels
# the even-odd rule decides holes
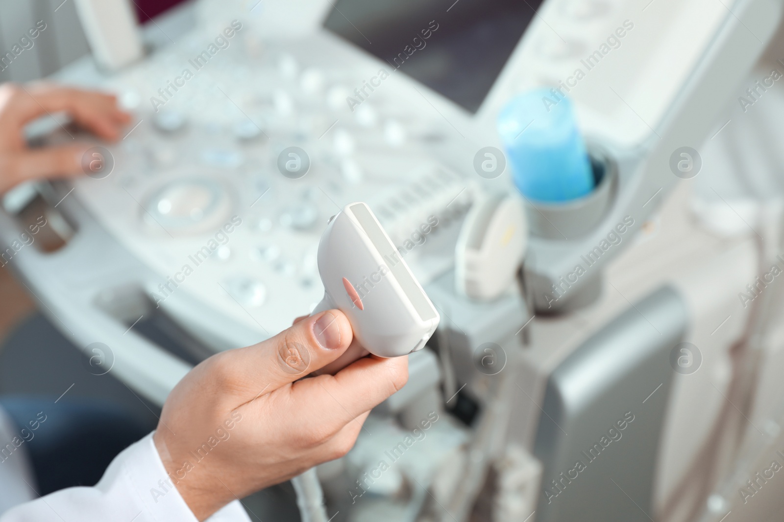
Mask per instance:
[[[687,329],[684,301],[664,286],[550,375],[534,449],[543,463],[536,520],[652,520],[670,351]]]

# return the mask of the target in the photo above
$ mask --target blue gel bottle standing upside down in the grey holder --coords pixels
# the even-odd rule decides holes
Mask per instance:
[[[515,96],[499,113],[498,131],[524,196],[558,203],[593,190],[593,169],[568,98],[546,89]]]

